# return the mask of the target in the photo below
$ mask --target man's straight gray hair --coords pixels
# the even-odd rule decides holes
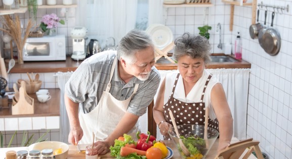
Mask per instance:
[[[141,49],[151,46],[154,51],[154,44],[151,37],[141,30],[131,30],[121,38],[117,47],[117,57],[122,58],[128,63],[135,63],[135,54]]]

